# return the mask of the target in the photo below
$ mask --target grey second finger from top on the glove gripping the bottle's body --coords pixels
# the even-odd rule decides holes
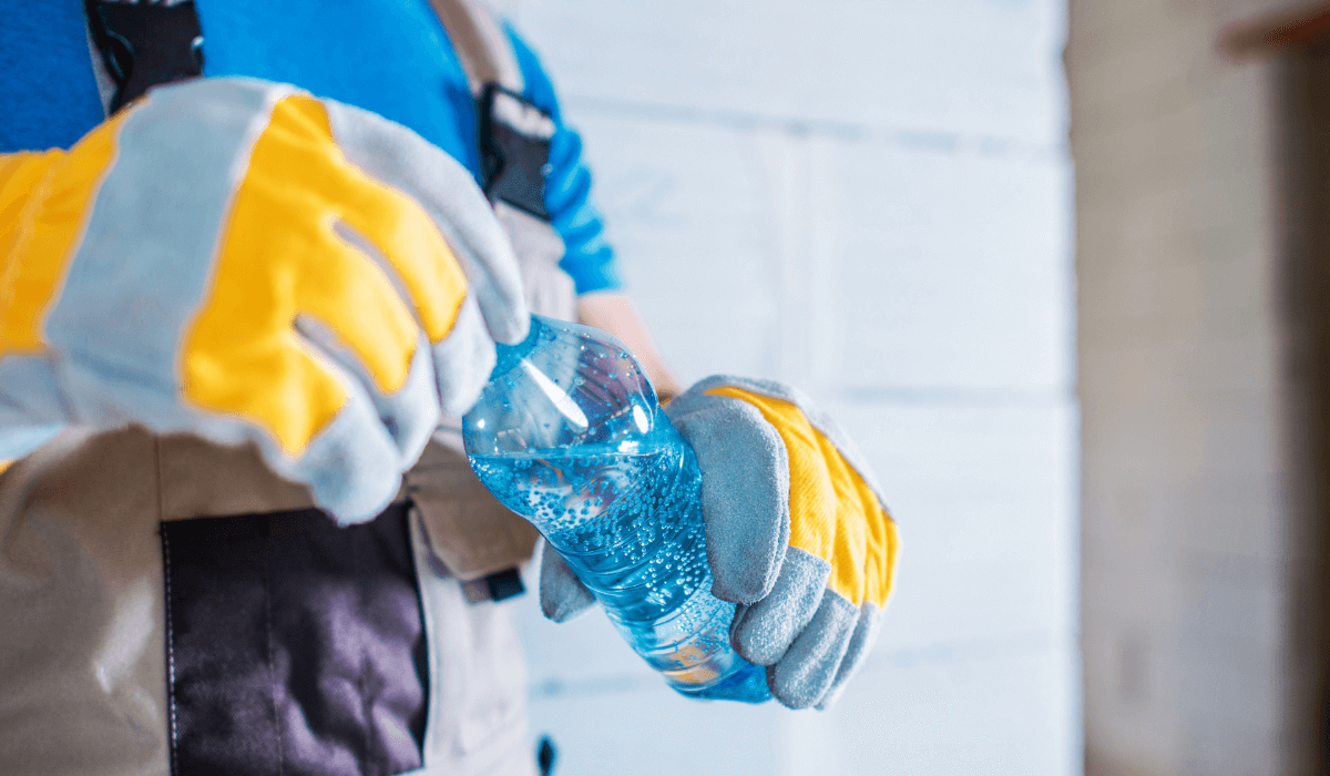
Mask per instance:
[[[735,612],[734,650],[749,663],[774,666],[813,620],[830,576],[830,563],[790,547],[770,595]]]

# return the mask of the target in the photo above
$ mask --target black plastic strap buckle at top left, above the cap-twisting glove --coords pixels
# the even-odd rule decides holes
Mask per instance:
[[[193,0],[84,0],[88,28],[116,81],[110,113],[148,89],[203,75],[203,31]]]

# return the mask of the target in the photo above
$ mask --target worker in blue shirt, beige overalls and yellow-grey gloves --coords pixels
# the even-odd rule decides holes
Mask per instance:
[[[531,527],[458,418],[529,311],[678,393],[540,63],[463,0],[3,0],[0,772],[527,775]],[[895,526],[778,383],[670,403],[786,705],[875,636]],[[591,604],[557,555],[541,606]]]

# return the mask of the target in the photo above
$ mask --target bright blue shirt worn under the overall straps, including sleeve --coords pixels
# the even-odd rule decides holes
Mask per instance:
[[[410,126],[479,180],[476,109],[428,0],[194,0],[205,76],[294,84]],[[622,285],[591,196],[581,138],[509,28],[525,97],[553,116],[545,209],[579,293]],[[0,0],[0,153],[68,148],[102,121],[78,0]]]

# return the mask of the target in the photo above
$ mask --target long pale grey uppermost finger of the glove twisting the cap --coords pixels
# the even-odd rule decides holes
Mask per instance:
[[[400,124],[331,100],[325,106],[346,157],[414,197],[431,216],[462,264],[493,339],[521,342],[531,314],[517,260],[471,173]]]

